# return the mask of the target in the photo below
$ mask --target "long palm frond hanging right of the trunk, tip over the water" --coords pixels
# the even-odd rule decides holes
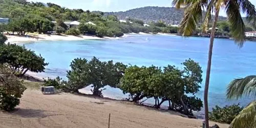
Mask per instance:
[[[242,1],[242,0],[239,0]],[[240,4],[238,1],[228,1],[226,4],[226,13],[230,23],[230,32],[236,43],[243,47],[245,41],[245,25],[240,14]]]

